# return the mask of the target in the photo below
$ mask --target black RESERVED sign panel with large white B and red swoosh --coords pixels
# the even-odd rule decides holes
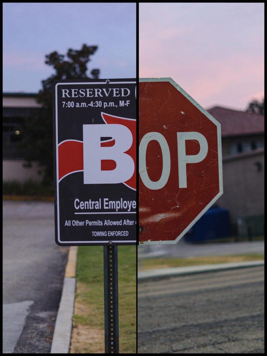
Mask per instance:
[[[53,88],[56,243],[136,245],[136,79]]]

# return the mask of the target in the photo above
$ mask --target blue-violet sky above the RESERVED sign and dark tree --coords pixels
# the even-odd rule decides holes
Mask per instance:
[[[6,2],[3,4],[3,91],[37,92],[53,73],[45,55],[98,45],[89,71],[100,78],[136,77],[136,4]]]

